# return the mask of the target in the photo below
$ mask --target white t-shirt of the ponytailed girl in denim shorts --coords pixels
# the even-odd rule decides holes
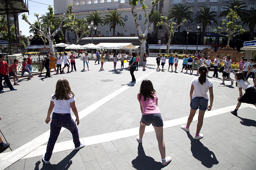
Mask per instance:
[[[207,92],[208,92],[209,87],[213,86],[213,83],[211,80],[206,78],[205,83],[203,85],[201,85],[199,83],[198,78],[194,78],[191,81],[191,84],[194,85],[194,93],[193,93],[192,99],[194,99],[195,97],[204,97],[205,99],[209,100]]]

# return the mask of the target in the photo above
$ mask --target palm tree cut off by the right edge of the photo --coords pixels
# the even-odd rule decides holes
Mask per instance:
[[[249,24],[250,29],[250,38],[253,40],[254,38],[254,27],[256,25],[256,10],[254,8],[251,8],[250,10],[247,10],[244,17],[241,18],[244,24]]]

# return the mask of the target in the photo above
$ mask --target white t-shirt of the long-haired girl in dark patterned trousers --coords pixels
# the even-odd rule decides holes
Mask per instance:
[[[52,97],[54,94],[52,94]],[[70,103],[75,101],[74,96],[70,96],[71,99],[69,99],[69,100],[56,100],[56,97],[54,99],[52,97],[51,97],[51,101],[53,101],[53,103],[54,103],[54,109],[53,109],[54,113],[69,113],[69,114],[71,114]]]

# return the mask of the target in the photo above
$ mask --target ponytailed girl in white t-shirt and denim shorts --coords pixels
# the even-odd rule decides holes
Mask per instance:
[[[213,83],[211,80],[206,78],[207,75],[207,68],[206,66],[200,66],[198,69],[198,72],[200,74],[199,78],[194,78],[191,81],[191,88],[190,88],[190,113],[188,116],[188,122],[187,125],[181,125],[181,129],[189,132],[189,126],[191,122],[193,121],[193,117],[196,114],[196,110],[199,108],[199,114],[198,114],[198,122],[197,122],[197,128],[196,128],[196,136],[194,139],[198,140],[203,138],[203,134],[199,134],[202,125],[203,125],[203,119],[204,119],[204,113],[206,109],[210,111],[212,109],[212,102],[213,102]],[[208,95],[207,92],[209,90],[210,93],[210,105],[208,106]],[[207,107],[208,106],[208,107]]]

